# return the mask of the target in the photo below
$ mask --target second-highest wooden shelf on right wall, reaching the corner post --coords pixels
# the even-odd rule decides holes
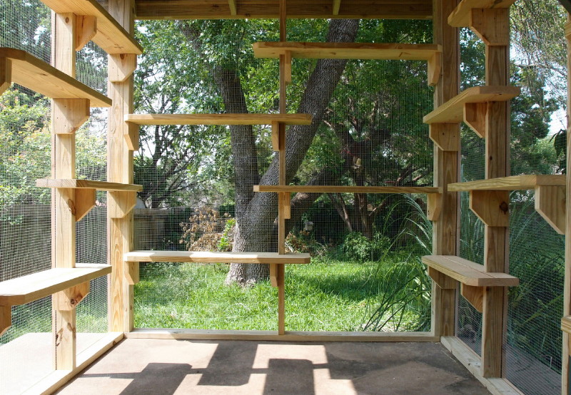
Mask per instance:
[[[520,94],[517,86],[474,86],[450,99],[435,111],[428,113],[424,123],[460,123],[464,118],[464,105],[467,103],[487,103],[489,101],[509,101]]]

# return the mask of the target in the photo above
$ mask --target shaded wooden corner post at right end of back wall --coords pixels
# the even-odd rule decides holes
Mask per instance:
[[[460,43],[458,29],[448,25],[448,15],[455,9],[458,0],[433,1],[434,41],[443,46],[442,75],[434,91],[434,106],[442,105],[460,89]],[[452,130],[454,129],[454,130]],[[455,137],[450,146],[457,150],[445,151],[434,147],[434,185],[443,188],[444,210],[433,222],[433,254],[458,255],[458,193],[448,192],[449,183],[459,181],[460,125],[450,125],[449,132]],[[433,282],[432,331],[435,336],[451,336],[455,333],[457,289],[441,289]]]

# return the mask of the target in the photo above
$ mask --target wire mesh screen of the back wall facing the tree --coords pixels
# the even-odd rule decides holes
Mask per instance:
[[[277,21],[152,21],[138,32],[137,112],[278,113],[279,63],[252,51],[278,40]],[[326,39],[430,42],[430,24],[288,21],[290,41]],[[314,117],[288,128],[287,183],[432,185],[425,62],[295,58],[287,107]],[[252,191],[278,183],[271,125],[141,128],[135,168],[136,248],[277,251],[277,195]],[[286,249],[313,258],[286,269],[286,329],[430,329],[425,205],[424,195],[293,194]],[[267,267],[141,263],[135,292],[136,327],[277,329]]]

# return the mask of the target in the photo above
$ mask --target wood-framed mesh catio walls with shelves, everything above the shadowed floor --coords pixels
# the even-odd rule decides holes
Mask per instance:
[[[165,337],[568,393],[568,1],[0,8],[0,393]]]

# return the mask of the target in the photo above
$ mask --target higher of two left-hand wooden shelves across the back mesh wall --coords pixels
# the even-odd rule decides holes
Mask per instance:
[[[136,125],[310,125],[310,114],[127,114]]]

